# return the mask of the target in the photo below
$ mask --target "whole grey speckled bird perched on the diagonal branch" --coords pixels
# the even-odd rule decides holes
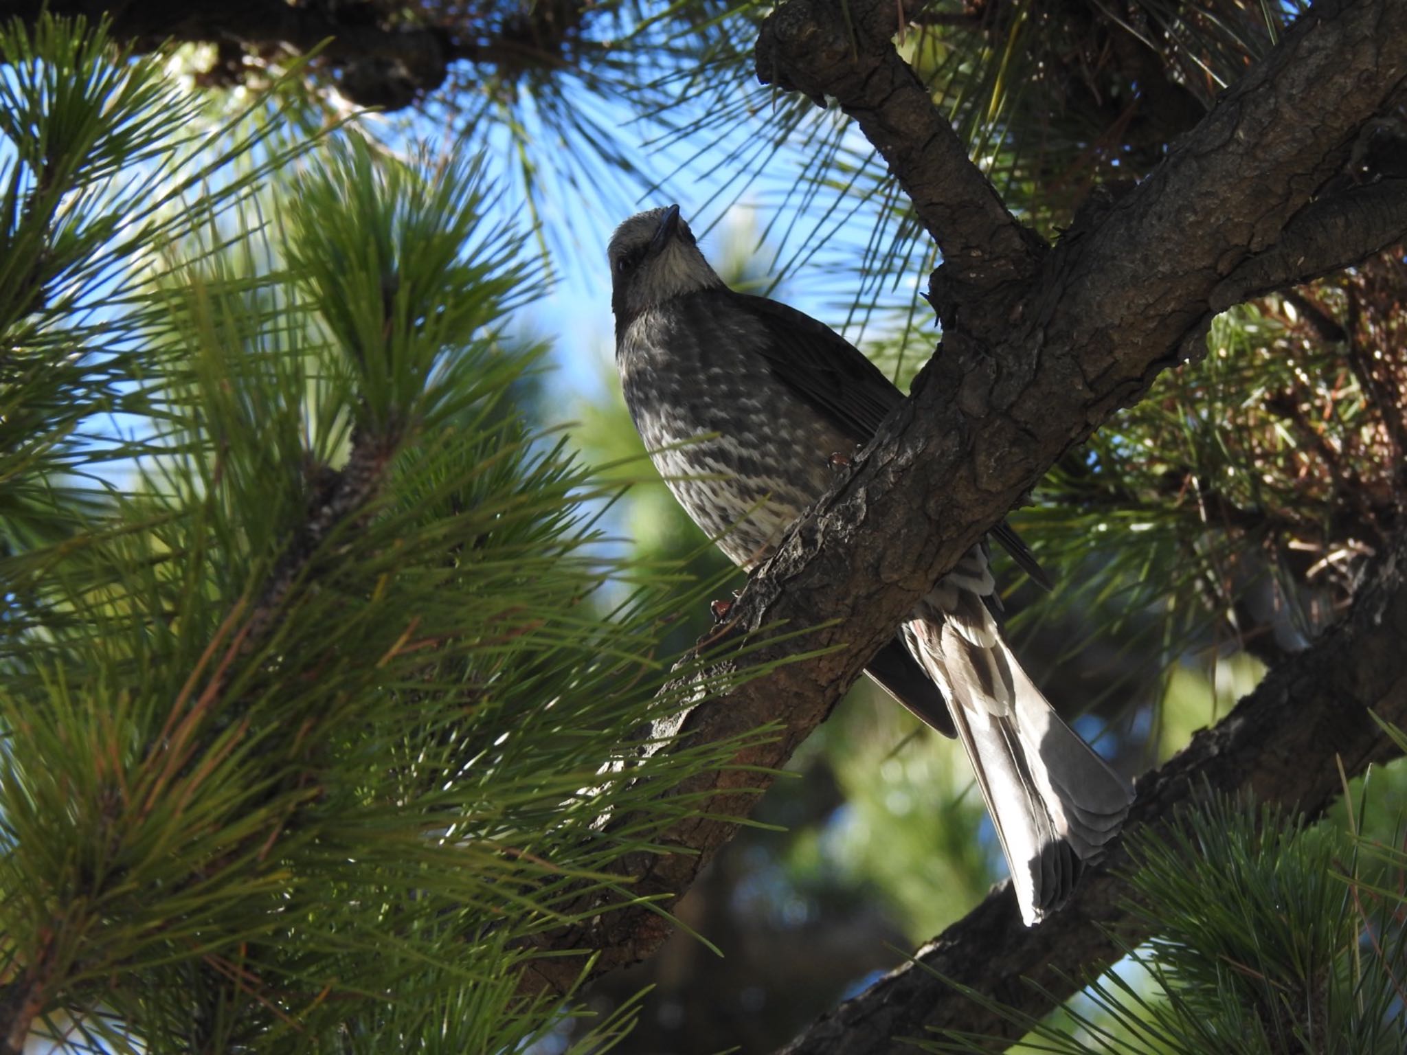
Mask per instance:
[[[626,407],[675,499],[751,571],[905,395],[862,352],[779,301],[737,293],[678,205],[611,236],[611,308]],[[989,536],[1050,587],[1003,520]],[[1040,923],[1103,854],[1133,791],[1069,729],[1002,630],[986,539],[922,598],[865,672],[972,764],[1021,920]]]

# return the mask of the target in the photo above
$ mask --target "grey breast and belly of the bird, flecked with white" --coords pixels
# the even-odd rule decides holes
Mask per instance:
[[[708,295],[650,308],[616,340],[626,405],[656,468],[744,567],[826,490],[830,454],[854,446],[777,380],[760,354],[767,339],[753,315]]]

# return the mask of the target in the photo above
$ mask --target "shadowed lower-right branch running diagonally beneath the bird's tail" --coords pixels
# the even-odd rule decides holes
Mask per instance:
[[[1407,727],[1407,535],[1379,554],[1348,620],[1313,648],[1276,667],[1216,729],[1155,774],[1138,782],[1128,827],[1165,827],[1172,812],[1207,791],[1249,791],[1261,802],[1318,816],[1342,792],[1335,758],[1349,776],[1392,754],[1392,743],[1369,716]],[[1034,1016],[1050,1002],[1021,979],[1057,999],[1071,996],[1085,971],[1114,962],[1114,942],[1145,938],[1127,912],[1117,879],[1127,867],[1117,848],[1081,881],[1075,900],[1036,930],[1021,926],[1016,903],[998,888],[967,917],[919,950],[916,962],[891,972],[812,1025],[787,1055],[879,1055],[910,1051],[899,1038],[931,1030],[1006,1037],[1009,1023],[944,985],[943,975]],[[922,965],[922,966],[920,966]],[[934,973],[936,972],[936,973]],[[1062,978],[1062,975],[1065,978]],[[1005,1044],[993,1044],[995,1049]]]

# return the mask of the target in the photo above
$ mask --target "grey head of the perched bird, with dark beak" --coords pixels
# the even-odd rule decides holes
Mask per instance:
[[[674,297],[723,284],[680,218],[678,205],[636,212],[611,235],[606,256],[616,325]]]

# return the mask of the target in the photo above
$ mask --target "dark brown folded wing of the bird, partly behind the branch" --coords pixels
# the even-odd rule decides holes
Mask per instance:
[[[870,442],[881,422],[903,402],[903,392],[884,371],[826,324],[765,297],[733,290],[719,290],[716,295],[734,297],[763,324],[767,340],[761,354],[771,363],[777,380],[857,445]],[[992,529],[992,537],[1033,582],[1043,589],[1051,588],[1050,575],[1012,525],[1002,520]]]

